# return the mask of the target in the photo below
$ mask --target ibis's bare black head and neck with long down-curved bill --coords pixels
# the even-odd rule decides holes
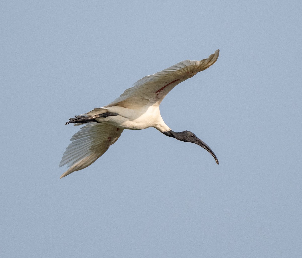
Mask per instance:
[[[207,144],[205,144],[202,140],[200,140],[198,137],[196,137],[196,135],[193,134],[192,132],[190,132],[190,131],[174,132],[171,130],[171,131],[166,131],[166,132],[162,132],[162,133],[169,137],[173,137],[177,140],[180,140],[183,142],[191,142],[191,143],[194,143],[194,144],[197,144],[197,145],[203,147],[209,153],[212,154],[212,156],[216,160],[216,163],[219,164],[219,161],[218,161],[217,156],[215,155],[214,151],[211,150],[211,148],[209,146],[207,146]]]

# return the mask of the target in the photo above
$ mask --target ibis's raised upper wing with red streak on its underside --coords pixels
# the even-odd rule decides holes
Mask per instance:
[[[157,102],[159,105],[165,95],[178,83],[209,68],[217,61],[218,56],[219,49],[207,59],[201,61],[185,60],[161,72],[145,76],[106,107],[117,105],[124,108],[140,108],[150,102]]]

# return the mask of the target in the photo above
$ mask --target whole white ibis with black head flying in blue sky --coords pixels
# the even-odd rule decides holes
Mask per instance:
[[[218,56],[219,49],[207,59],[185,60],[161,72],[145,76],[109,105],[69,118],[70,121],[66,124],[85,126],[72,136],[72,143],[63,154],[59,167],[67,165],[70,168],[61,178],[95,162],[117,141],[124,129],[154,127],[166,136],[198,144],[210,152],[219,164],[217,156],[207,144],[190,131],[172,131],[159,112],[159,105],[170,90],[209,68],[217,61]]]

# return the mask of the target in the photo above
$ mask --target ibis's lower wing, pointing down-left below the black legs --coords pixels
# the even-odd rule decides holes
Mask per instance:
[[[124,129],[103,123],[89,123],[71,138],[59,167],[70,167],[62,176],[83,169],[102,156],[114,144]]]

